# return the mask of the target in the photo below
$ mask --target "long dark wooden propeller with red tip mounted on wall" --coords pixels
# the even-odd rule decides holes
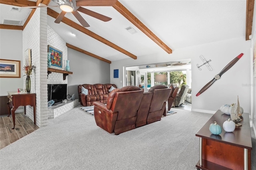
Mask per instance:
[[[222,74],[224,74],[226,71],[228,71],[237,61],[238,59],[240,59],[242,57],[242,55],[244,55],[243,53],[240,53],[236,58],[234,58],[232,61],[230,61],[230,63],[228,63],[228,65],[226,65],[226,67],[224,67],[224,69],[222,69],[222,71],[220,71],[220,73],[218,73],[217,75],[214,76],[214,78],[207,83],[197,94],[196,96],[199,96],[200,94],[202,94],[204,91],[206,91],[216,80],[220,79],[220,76]]]

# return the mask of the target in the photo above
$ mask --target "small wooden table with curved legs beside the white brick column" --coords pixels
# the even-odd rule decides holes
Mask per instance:
[[[8,117],[12,113],[13,127],[15,128],[15,111],[19,106],[24,107],[24,114],[26,115],[26,105],[30,105],[34,110],[34,125],[36,125],[36,93],[16,93],[16,91],[8,91],[9,102],[7,103]]]

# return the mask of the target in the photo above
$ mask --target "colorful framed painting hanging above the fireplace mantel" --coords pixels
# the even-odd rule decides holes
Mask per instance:
[[[62,68],[62,51],[55,49],[54,47],[48,45],[48,52],[50,54],[50,59],[52,66]]]

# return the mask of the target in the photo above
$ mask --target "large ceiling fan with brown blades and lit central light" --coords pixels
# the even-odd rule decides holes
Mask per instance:
[[[41,8],[41,7],[59,7],[62,12],[58,15],[55,23],[60,23],[66,14],[66,12],[71,12],[76,19],[80,22],[83,27],[89,27],[90,25],[84,20],[84,18],[78,13],[82,12],[98,20],[102,20],[104,22],[110,21],[112,18],[108,16],[104,16],[97,12],[88,10],[86,8],[82,8],[81,6],[112,6],[116,3],[116,0],[52,0],[57,3],[58,6],[46,6],[44,4],[39,4],[39,6],[26,6],[24,8]]]

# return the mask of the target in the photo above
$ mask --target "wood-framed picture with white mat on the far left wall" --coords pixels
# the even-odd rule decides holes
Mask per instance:
[[[0,77],[20,78],[20,61],[0,59]]]

